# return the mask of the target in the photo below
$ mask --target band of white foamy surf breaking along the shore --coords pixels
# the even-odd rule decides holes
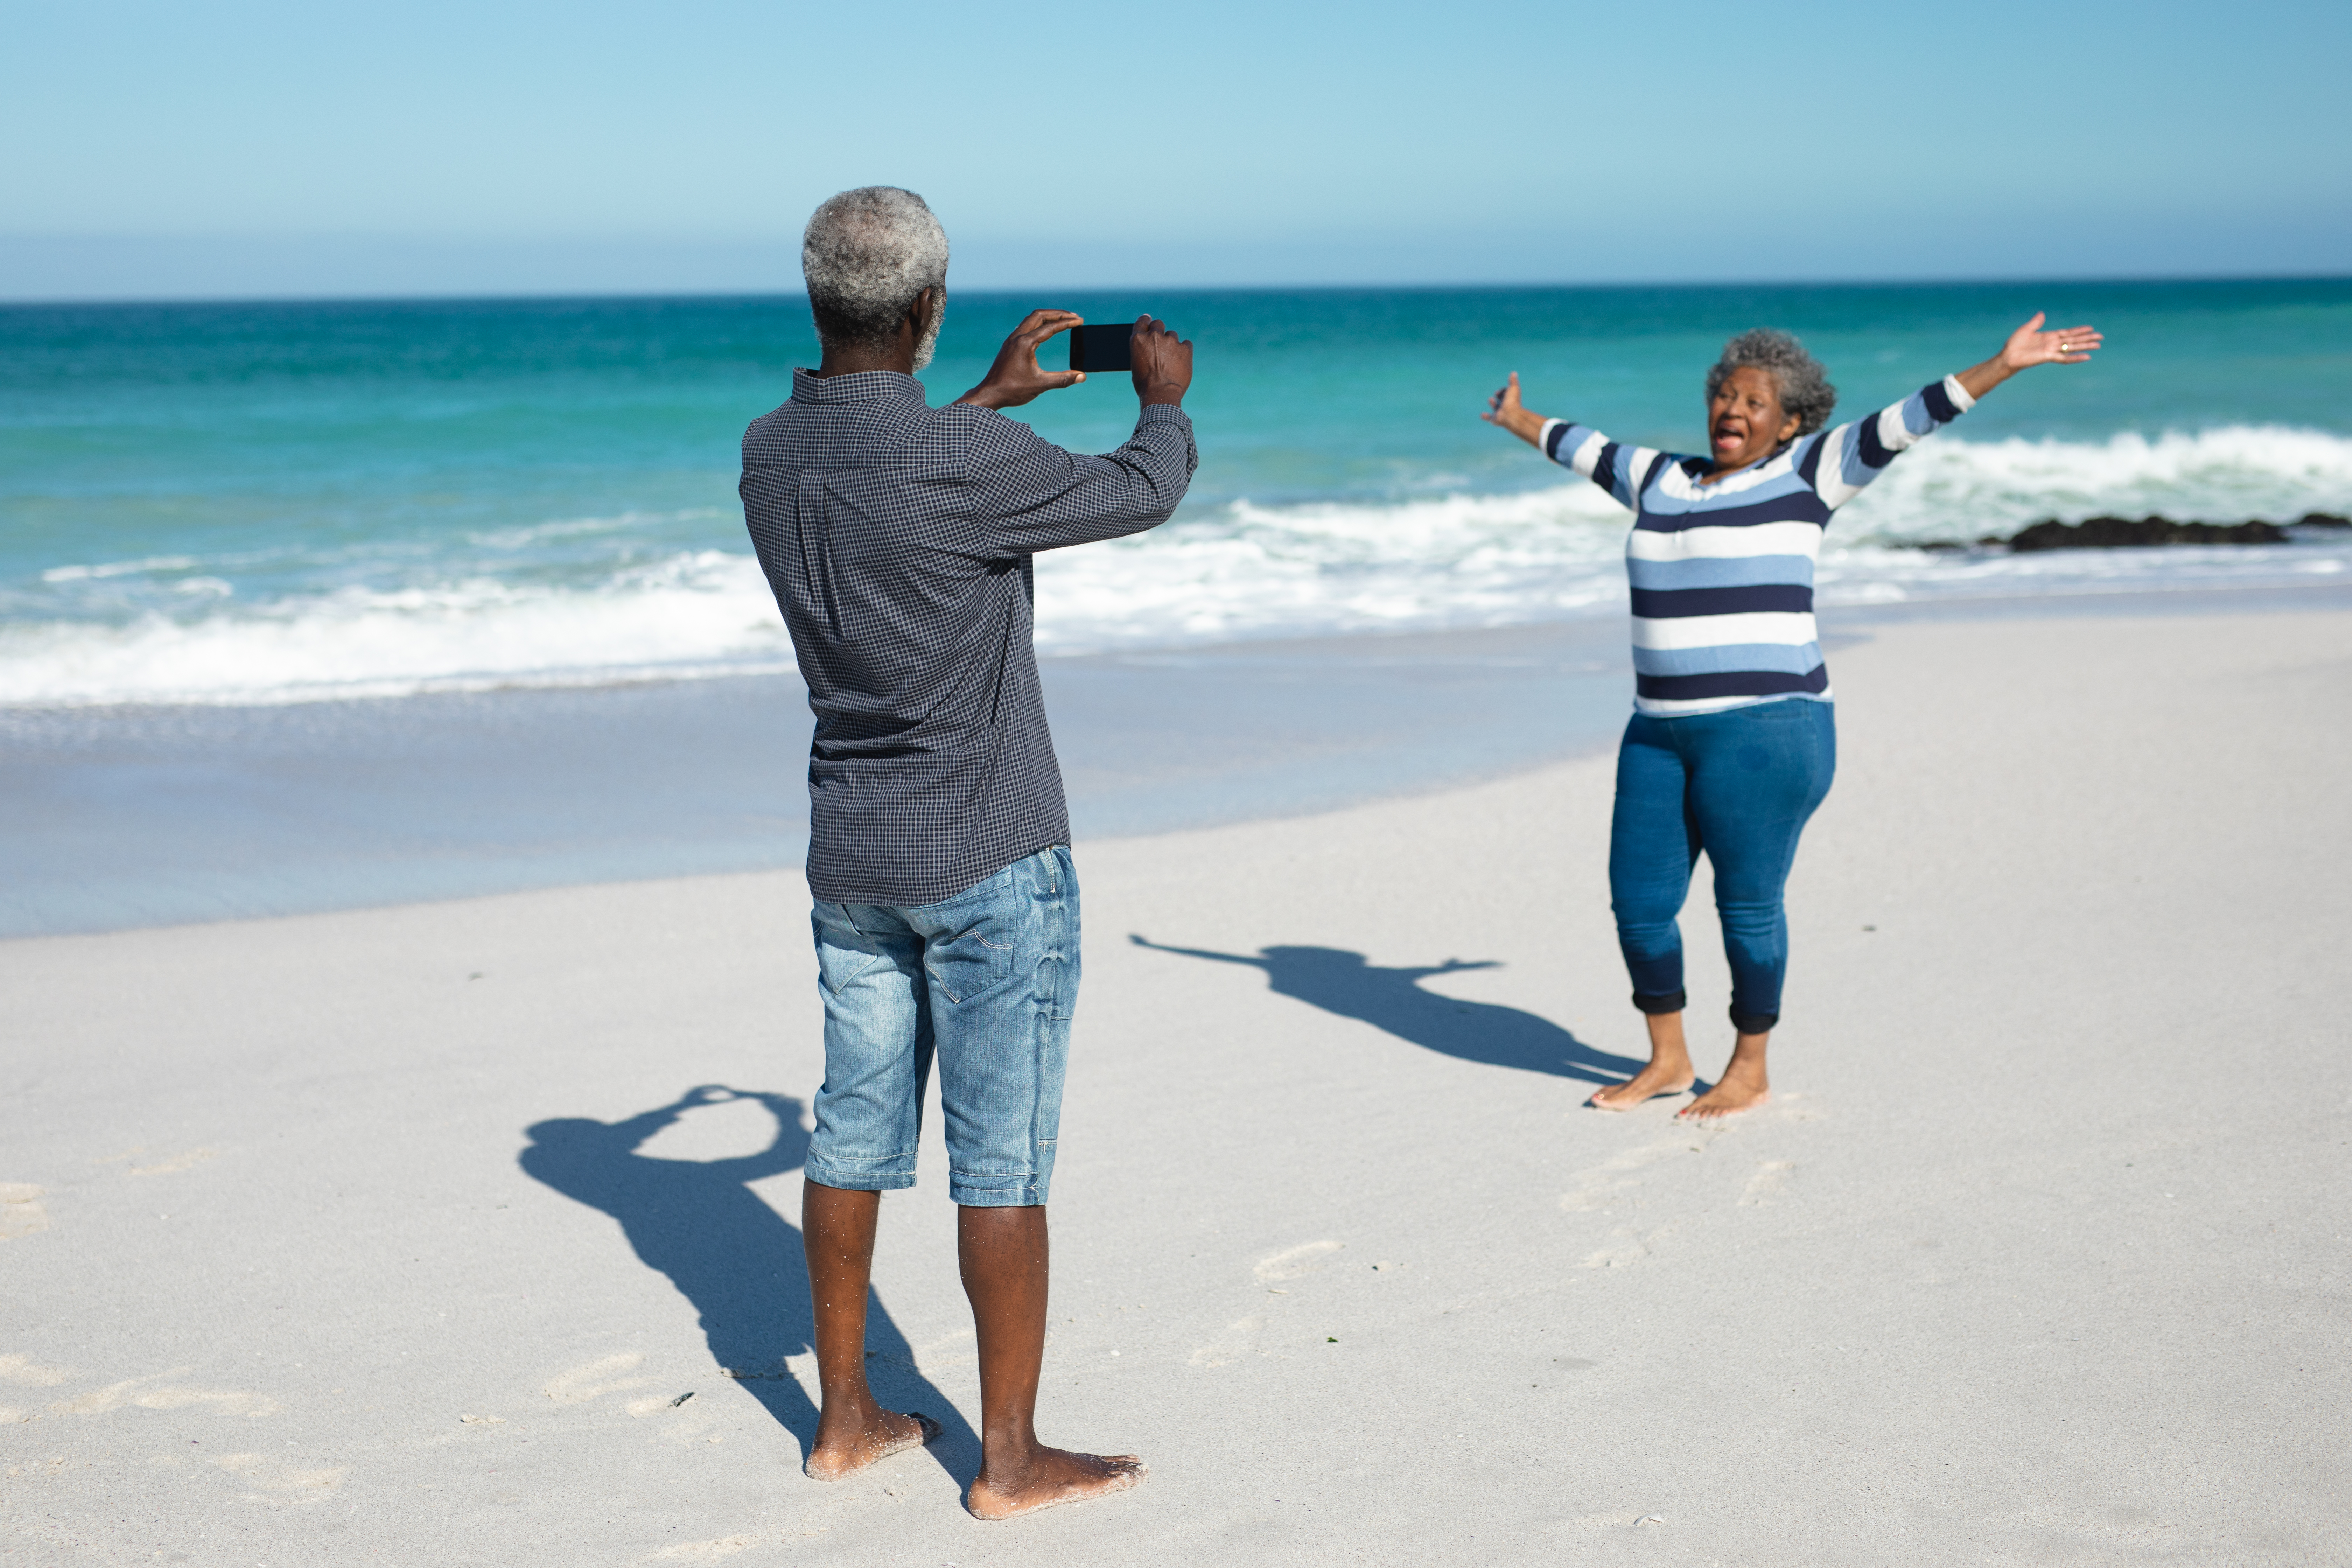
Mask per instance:
[[[1214,456],[1214,454],[1211,454]],[[2340,581],[2352,541],[1929,555],[2042,517],[2288,522],[2352,510],[2352,440],[2230,425],[2103,442],[1931,440],[1839,512],[1825,604],[1943,595]],[[299,703],[416,691],[783,672],[790,642],[748,548],[550,520],[480,534],[407,581],[256,595],[249,557],[52,567],[0,595],[0,705]],[[713,524],[717,531],[720,524]],[[1625,512],[1569,480],[1392,503],[1228,501],[1037,559],[1037,642],[1103,651],[1611,614]],[[562,557],[534,550],[562,545]]]

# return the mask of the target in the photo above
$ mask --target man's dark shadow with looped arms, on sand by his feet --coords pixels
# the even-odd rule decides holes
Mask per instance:
[[[776,1117],[776,1140],[741,1159],[656,1159],[637,1147],[684,1112],[724,1100],[760,1100]],[[802,1458],[816,1439],[809,1389],[783,1368],[814,1347],[809,1262],[800,1227],[769,1208],[750,1182],[797,1171],[809,1154],[800,1100],[703,1084],[670,1105],[626,1121],[555,1117],[529,1128],[517,1164],[569,1199],[621,1222],[637,1258],[670,1276],[701,1312],[703,1340],[722,1368],[753,1373],[743,1389],[795,1439]],[[915,1349],[877,1295],[866,1300],[866,1375],[894,1410],[922,1410],[948,1427],[931,1453],[978,1458],[978,1436],[938,1387],[915,1368]]]

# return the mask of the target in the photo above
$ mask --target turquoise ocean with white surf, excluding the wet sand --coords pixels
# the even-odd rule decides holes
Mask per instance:
[[[1623,614],[1625,515],[1477,421],[1691,449],[1731,331],[1856,416],[2032,310],[2107,334],[1849,505],[1823,604],[2345,583],[2352,541],[1926,552],[2042,517],[2352,512],[2352,280],[950,296],[934,402],[1030,306],[1197,343],[1178,517],[1040,562],[1049,654]],[[734,498],[797,299],[0,308],[0,708],[254,705],[788,672]],[[1051,360],[1049,360],[1051,362]],[[1018,411],[1115,447],[1122,376]]]

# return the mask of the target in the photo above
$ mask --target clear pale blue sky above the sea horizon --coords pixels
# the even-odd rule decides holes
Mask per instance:
[[[2352,7],[0,0],[0,299],[2352,270]]]

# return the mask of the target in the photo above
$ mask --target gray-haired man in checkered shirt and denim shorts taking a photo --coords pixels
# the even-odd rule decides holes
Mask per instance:
[[[1047,733],[1030,604],[1037,550],[1138,534],[1197,463],[1192,346],[1134,331],[1143,411],[1110,456],[1073,456],[997,409],[1084,381],[1037,346],[1037,310],[988,378],[924,402],[948,235],[922,197],[844,190],[802,240],[823,341],[793,397],[743,435],[743,515],[816,710],[809,891],[826,1081],[802,1225],[823,1413],[807,1472],[847,1476],[938,1436],[866,1387],[866,1291],[882,1192],[915,1185],[938,1058],[957,1258],[981,1342],[981,1474],[964,1507],[1009,1519],[1127,1490],[1134,1455],[1037,1441],[1047,1225],[1077,1004],[1077,875]]]

